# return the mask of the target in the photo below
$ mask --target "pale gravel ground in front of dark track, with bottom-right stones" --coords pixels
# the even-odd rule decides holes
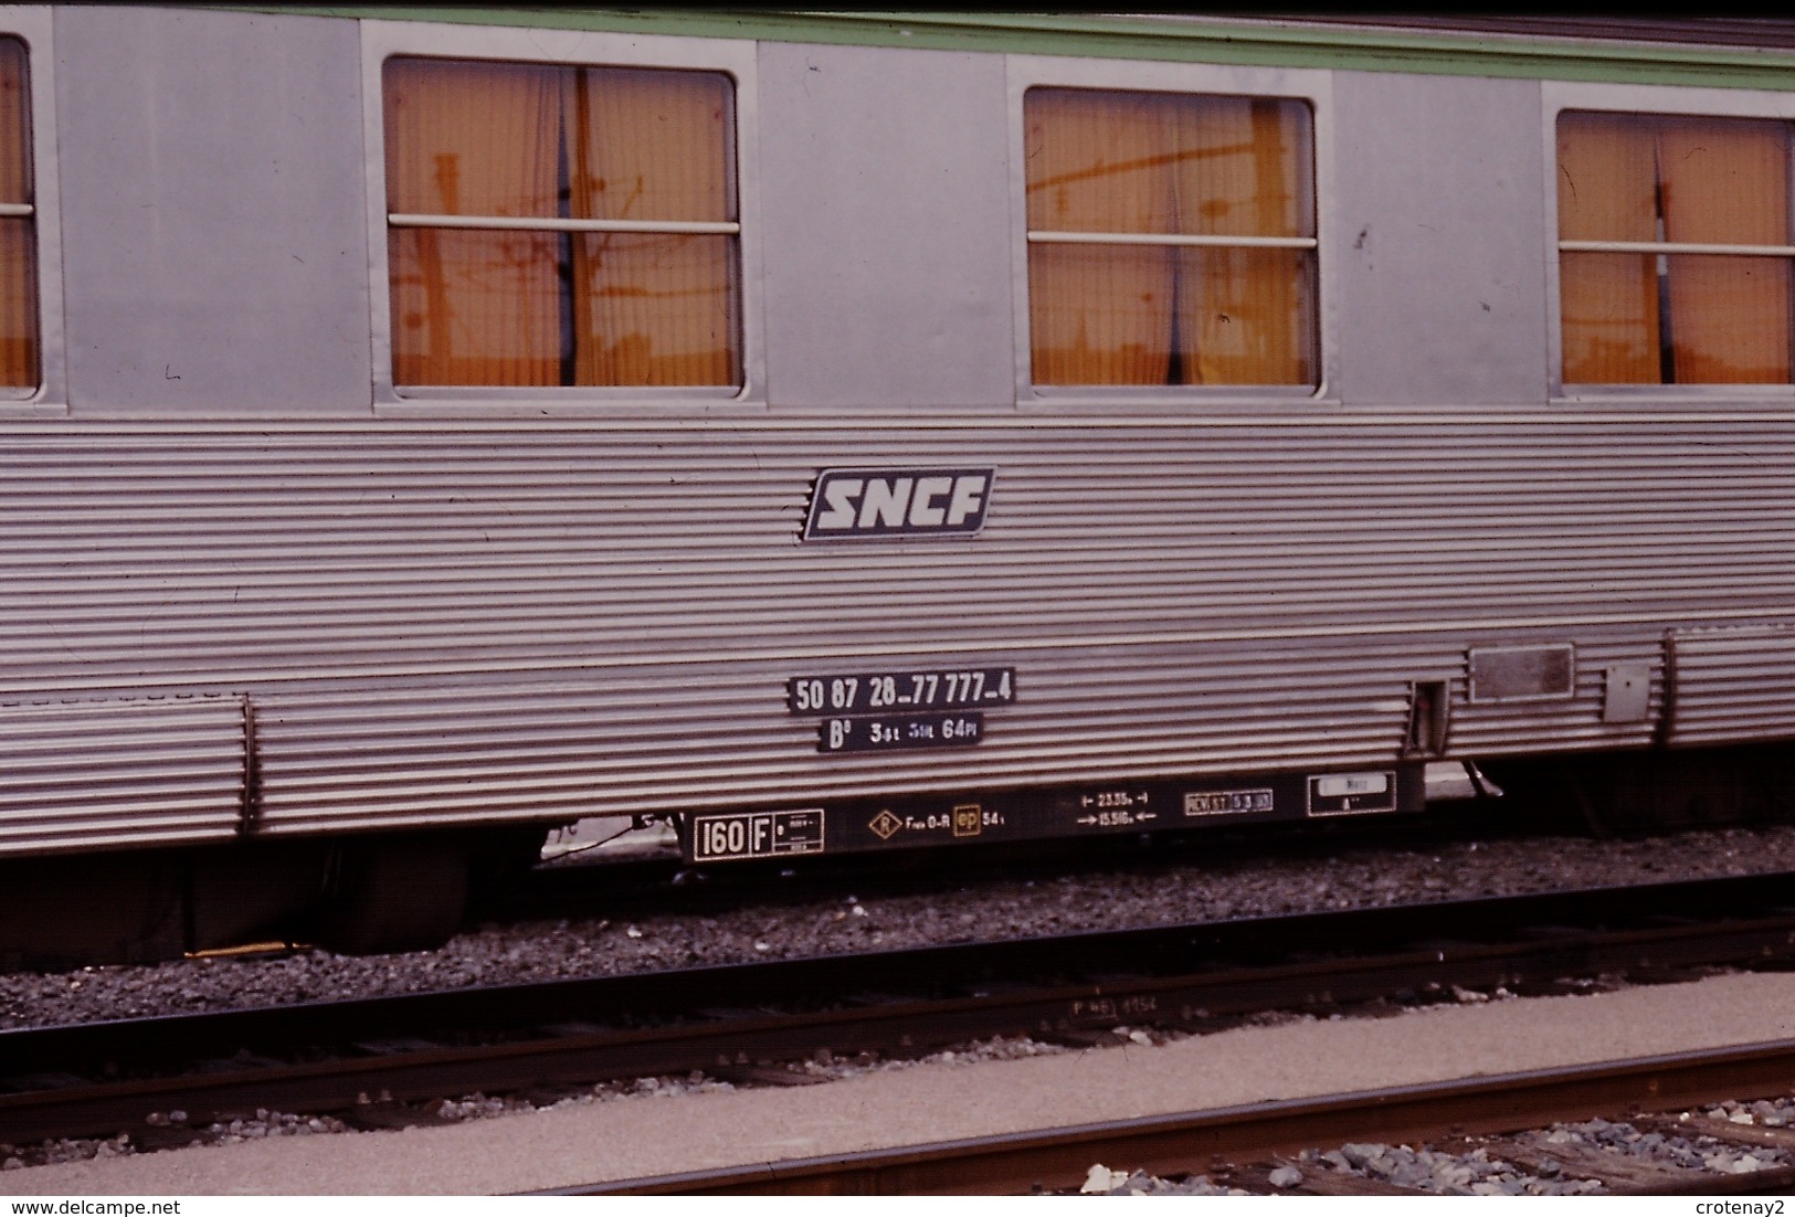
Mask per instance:
[[[244,1122],[235,1143],[192,1152],[129,1154],[115,1145],[102,1160],[14,1169],[0,1174],[0,1192],[499,1194],[564,1188],[851,1154],[881,1145],[926,1145],[1152,1113],[1226,1111],[1260,1102],[1738,1046],[1766,1036],[1795,1034],[1788,1011],[1795,1011],[1795,976],[1725,975],[1592,994],[1411,1007],[1391,1018],[1298,1016],[1278,1025],[1237,1027],[1151,1045],[1127,1036],[1109,1048],[1048,1054],[1016,1045],[1003,1059],[939,1054],[912,1068],[889,1063],[856,1066],[858,1072],[831,1086],[695,1086],[689,1077],[677,1079],[679,1084],[637,1082],[628,1093],[567,1097],[531,1115],[456,1118],[442,1127],[404,1133],[253,1136]],[[817,1072],[827,1068],[817,1064]],[[454,1106],[460,1109],[463,1104]],[[510,1104],[486,1100],[477,1106]],[[1677,1113],[1666,1115],[1677,1118]],[[1721,1113],[1712,1113],[1711,1120],[1716,1116]],[[1721,1118],[1729,1124],[1750,1118],[1764,1125],[1759,1131],[1775,1131],[1773,1120],[1764,1118],[1756,1104],[1741,1104]],[[1605,1127],[1610,1133],[1605,1134]],[[1389,1186],[1388,1176],[1373,1174],[1423,1165],[1429,1178],[1438,1178],[1443,1186],[1470,1186],[1506,1181],[1504,1167],[1479,1167],[1479,1147],[1484,1149],[1481,1161],[1522,1167],[1537,1179],[1578,1178],[1592,1154],[1616,1152],[1608,1142],[1617,1125],[1590,1122],[1551,1133],[1558,1131],[1580,1140],[1567,1136],[1563,1142],[1537,1143],[1526,1134],[1493,1140],[1458,1134],[1434,1145],[1411,1145],[1407,1152],[1355,1143],[1352,1154],[1344,1147],[1321,1145],[1316,1147],[1316,1161],[1294,1158],[1292,1165],[1303,1176],[1310,1170],[1318,1178],[1339,1174],[1334,1160],[1321,1161],[1334,1149],[1346,1160],[1346,1172],[1371,1172],[1359,1181],[1362,1186],[1350,1186],[1353,1179],[1339,1178],[1339,1185],[1348,1185],[1344,1190]],[[1677,1140],[1682,1138],[1689,1142],[1687,1149],[1702,1154],[1705,1170],[1732,1176],[1750,1169],[1745,1158],[1766,1165],[1756,1147],[1716,1145],[1716,1152],[1702,1152],[1711,1147],[1698,1138],[1711,1131],[1712,1124],[1684,1131],[1659,1118],[1635,1122],[1630,1133],[1621,1131],[1619,1136],[1626,1140],[1637,1133],[1637,1149],[1648,1154],[1657,1147],[1678,1152],[1684,1147]],[[1655,1142],[1653,1134],[1662,1140]],[[1517,1145],[1528,1152],[1522,1154]],[[1423,1152],[1440,1156],[1423,1158]],[[1467,1156],[1463,1161],[1461,1154]],[[1353,1158],[1361,1165],[1353,1165]],[[1553,1172],[1547,1158],[1562,1161],[1563,1169]],[[1111,1160],[1108,1167],[1115,1170],[1106,1179],[1125,1183],[1136,1163]],[[1192,1167],[1203,1170],[1208,1163]],[[1651,1176],[1653,1169],[1653,1161],[1639,1161],[1633,1170],[1621,1172],[1621,1186]],[[1219,1181],[1249,1190],[1291,1190],[1271,1185],[1265,1176],[1260,1167],[1256,1174],[1248,1170]]]

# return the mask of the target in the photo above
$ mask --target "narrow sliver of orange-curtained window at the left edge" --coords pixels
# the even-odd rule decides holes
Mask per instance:
[[[0,38],[0,386],[5,388],[34,388],[41,377],[36,219],[25,45]]]

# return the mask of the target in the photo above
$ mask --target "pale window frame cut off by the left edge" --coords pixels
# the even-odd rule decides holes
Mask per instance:
[[[63,416],[68,413],[66,339],[63,332],[63,235],[56,147],[56,50],[48,5],[0,5],[0,38],[25,45],[31,97],[32,224],[38,241],[38,384],[0,388],[0,416]]]

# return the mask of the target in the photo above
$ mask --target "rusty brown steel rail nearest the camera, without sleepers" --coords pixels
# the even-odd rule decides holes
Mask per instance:
[[[1678,1052],[1323,1099],[1183,1111],[1003,1136],[749,1163],[558,1188],[547,1195],[1012,1195],[1077,1188],[1091,1163],[1201,1174],[1215,1158],[1289,1154],[1344,1142],[1513,1133],[1562,1120],[1795,1091],[1795,1039]],[[1657,1194],[1763,1192],[1795,1170],[1698,1176]],[[1420,1192],[1416,1192],[1420,1194]]]

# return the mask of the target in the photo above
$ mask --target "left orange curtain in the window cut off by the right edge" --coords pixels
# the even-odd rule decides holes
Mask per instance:
[[[1558,120],[1562,241],[1657,241],[1657,138],[1630,115]],[[1657,382],[1659,273],[1650,253],[1563,253],[1558,260],[1563,379]]]

